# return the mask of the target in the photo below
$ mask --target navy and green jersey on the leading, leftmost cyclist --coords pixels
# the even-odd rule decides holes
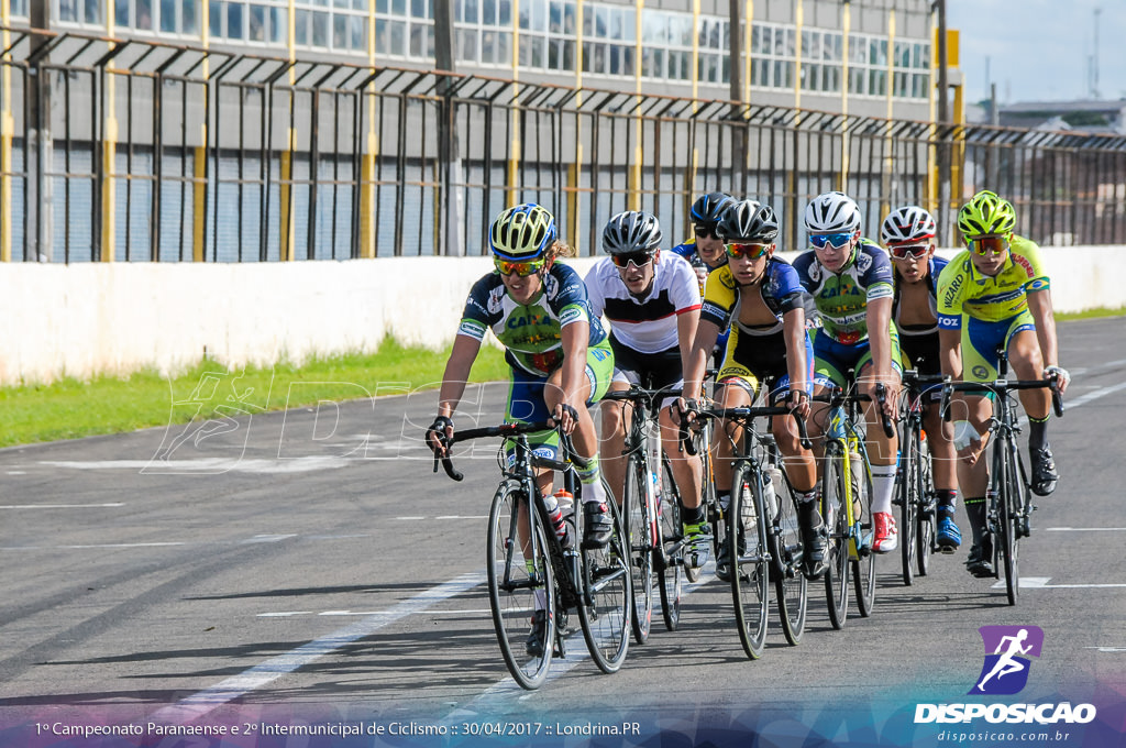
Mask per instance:
[[[573,268],[555,262],[544,275],[539,295],[527,305],[508,295],[499,273],[477,280],[465,301],[457,332],[484,340],[491,329],[507,349],[504,358],[510,366],[546,376],[563,363],[562,330],[575,322],[590,324],[588,346],[606,340],[606,330],[591,311],[582,278]]]

